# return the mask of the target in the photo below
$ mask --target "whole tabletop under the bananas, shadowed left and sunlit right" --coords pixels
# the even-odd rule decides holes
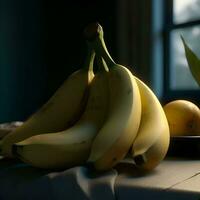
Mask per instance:
[[[0,160],[0,199],[200,200],[200,160],[165,159],[143,174],[130,162],[95,174],[87,167],[51,172]]]

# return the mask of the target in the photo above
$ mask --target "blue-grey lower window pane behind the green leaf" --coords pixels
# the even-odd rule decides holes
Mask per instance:
[[[184,37],[195,54],[200,56],[200,26],[172,31],[170,87],[171,89],[199,89],[188,67],[180,35]]]

